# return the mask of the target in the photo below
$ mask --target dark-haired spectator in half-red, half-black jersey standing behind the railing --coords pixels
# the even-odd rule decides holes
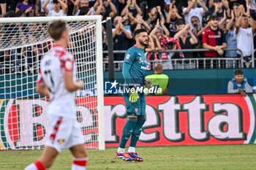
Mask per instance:
[[[209,28],[206,28],[203,31],[202,35],[202,42],[203,47],[208,50],[214,51],[207,51],[205,52],[206,58],[219,58],[222,57],[224,54],[223,48],[227,47],[225,34],[224,32],[218,28],[218,20],[216,15],[212,15],[209,18]],[[211,60],[206,62],[206,66],[209,68],[211,67]],[[213,62],[213,67],[217,68],[217,61]]]

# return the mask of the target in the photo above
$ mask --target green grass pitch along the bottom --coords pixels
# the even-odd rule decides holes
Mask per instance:
[[[24,169],[39,158],[42,150],[1,151],[0,169]],[[124,162],[115,158],[116,148],[88,150],[87,169],[256,169],[256,145],[208,145],[138,147],[144,162]],[[72,156],[63,150],[50,169],[71,169]]]

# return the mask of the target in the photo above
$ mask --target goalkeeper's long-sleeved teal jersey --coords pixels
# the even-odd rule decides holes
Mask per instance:
[[[130,47],[124,56],[123,76],[127,84],[143,86],[146,76],[146,56],[140,47]]]

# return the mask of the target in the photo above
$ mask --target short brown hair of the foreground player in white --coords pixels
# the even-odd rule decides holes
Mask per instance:
[[[48,26],[48,33],[55,41],[61,39],[61,35],[67,30],[66,22],[64,20],[55,20]]]

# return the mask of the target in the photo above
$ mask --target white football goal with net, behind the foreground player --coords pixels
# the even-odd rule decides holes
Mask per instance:
[[[77,118],[90,149],[105,149],[100,16],[1,18],[0,150],[45,147],[49,98],[35,91],[40,59],[53,47],[50,21],[66,20],[68,51],[75,56],[76,77],[85,83],[76,92]]]

